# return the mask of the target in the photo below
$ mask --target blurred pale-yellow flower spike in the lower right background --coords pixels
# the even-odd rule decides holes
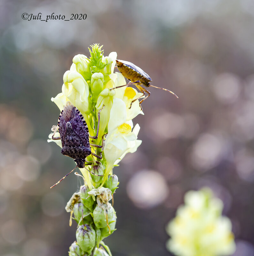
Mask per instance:
[[[223,203],[204,188],[189,191],[166,231],[167,248],[178,256],[226,256],[235,252],[231,221],[221,216]]]

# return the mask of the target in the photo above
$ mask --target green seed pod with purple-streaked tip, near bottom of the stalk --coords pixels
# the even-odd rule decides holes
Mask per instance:
[[[92,226],[88,224],[79,226],[76,231],[76,239],[77,239],[77,244],[80,246],[80,248],[84,252],[91,254],[95,246],[95,240],[96,240],[95,231],[92,228]]]

